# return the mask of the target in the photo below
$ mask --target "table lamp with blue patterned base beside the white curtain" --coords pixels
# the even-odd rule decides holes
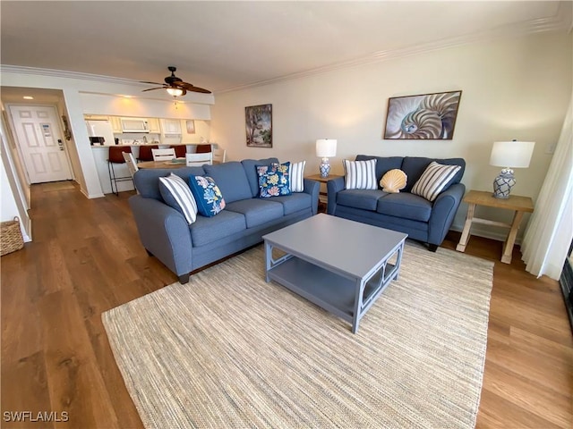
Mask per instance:
[[[504,167],[493,181],[493,197],[509,198],[516,184],[512,168],[527,168],[534,153],[535,141],[496,141],[493,143],[490,165]]]

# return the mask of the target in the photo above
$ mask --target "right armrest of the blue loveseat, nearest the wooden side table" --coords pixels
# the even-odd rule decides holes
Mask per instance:
[[[451,223],[454,222],[454,217],[465,192],[466,186],[463,183],[456,183],[436,198],[428,224],[428,243],[440,246]]]

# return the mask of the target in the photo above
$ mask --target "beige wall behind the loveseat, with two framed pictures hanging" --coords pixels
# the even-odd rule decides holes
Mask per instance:
[[[333,172],[356,154],[377,156],[461,156],[467,189],[492,189],[499,168],[489,165],[493,141],[536,142],[528,169],[516,170],[513,192],[535,198],[557,142],[572,85],[572,38],[544,33],[458,46],[379,63],[286,80],[217,95],[211,107],[211,139],[230,159],[278,156],[307,161],[318,172],[315,139],[338,139]],[[384,140],[389,97],[462,90],[452,140]],[[273,147],[246,147],[244,107],[272,104]],[[478,215],[509,222],[511,214],[482,209]],[[466,206],[458,211],[460,230]],[[523,230],[523,228],[522,228]],[[494,227],[475,230],[500,237]]]

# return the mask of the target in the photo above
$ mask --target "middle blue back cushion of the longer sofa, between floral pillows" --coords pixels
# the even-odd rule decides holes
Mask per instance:
[[[212,177],[217,183],[227,203],[252,198],[251,187],[241,163],[232,161],[224,164],[203,165],[203,169],[205,175]]]

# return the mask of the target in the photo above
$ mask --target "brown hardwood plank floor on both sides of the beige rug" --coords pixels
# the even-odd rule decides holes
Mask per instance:
[[[69,187],[31,192],[34,241],[1,259],[2,427],[142,427],[101,313],[176,276],[141,247],[131,192],[92,200]],[[458,239],[451,232],[443,247]],[[466,254],[495,261],[477,427],[572,427],[573,337],[559,284],[526,273],[517,249],[501,264],[497,241],[472,237]],[[8,422],[17,411],[56,414]]]

